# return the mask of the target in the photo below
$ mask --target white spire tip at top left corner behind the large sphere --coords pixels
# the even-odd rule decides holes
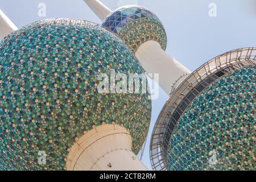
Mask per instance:
[[[0,39],[5,38],[11,32],[18,30],[15,24],[0,10]]]

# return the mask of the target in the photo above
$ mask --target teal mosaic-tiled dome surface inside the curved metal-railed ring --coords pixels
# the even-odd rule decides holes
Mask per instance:
[[[170,141],[170,170],[256,169],[255,72],[234,71],[192,102]]]

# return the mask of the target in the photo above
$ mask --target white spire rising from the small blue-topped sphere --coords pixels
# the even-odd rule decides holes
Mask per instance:
[[[112,12],[99,0],[84,0],[84,2],[102,21]]]

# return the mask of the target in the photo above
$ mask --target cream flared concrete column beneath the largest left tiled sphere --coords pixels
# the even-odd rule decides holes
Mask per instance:
[[[131,151],[129,132],[118,125],[94,127],[72,146],[67,169],[76,171],[145,171],[147,168]]]

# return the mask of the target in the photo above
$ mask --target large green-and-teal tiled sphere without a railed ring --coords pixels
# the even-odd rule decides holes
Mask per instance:
[[[65,169],[77,138],[102,123],[130,131],[140,150],[151,117],[148,93],[99,93],[100,73],[143,73],[117,36],[84,20],[20,28],[0,47],[0,169]],[[46,164],[38,163],[45,151]]]

